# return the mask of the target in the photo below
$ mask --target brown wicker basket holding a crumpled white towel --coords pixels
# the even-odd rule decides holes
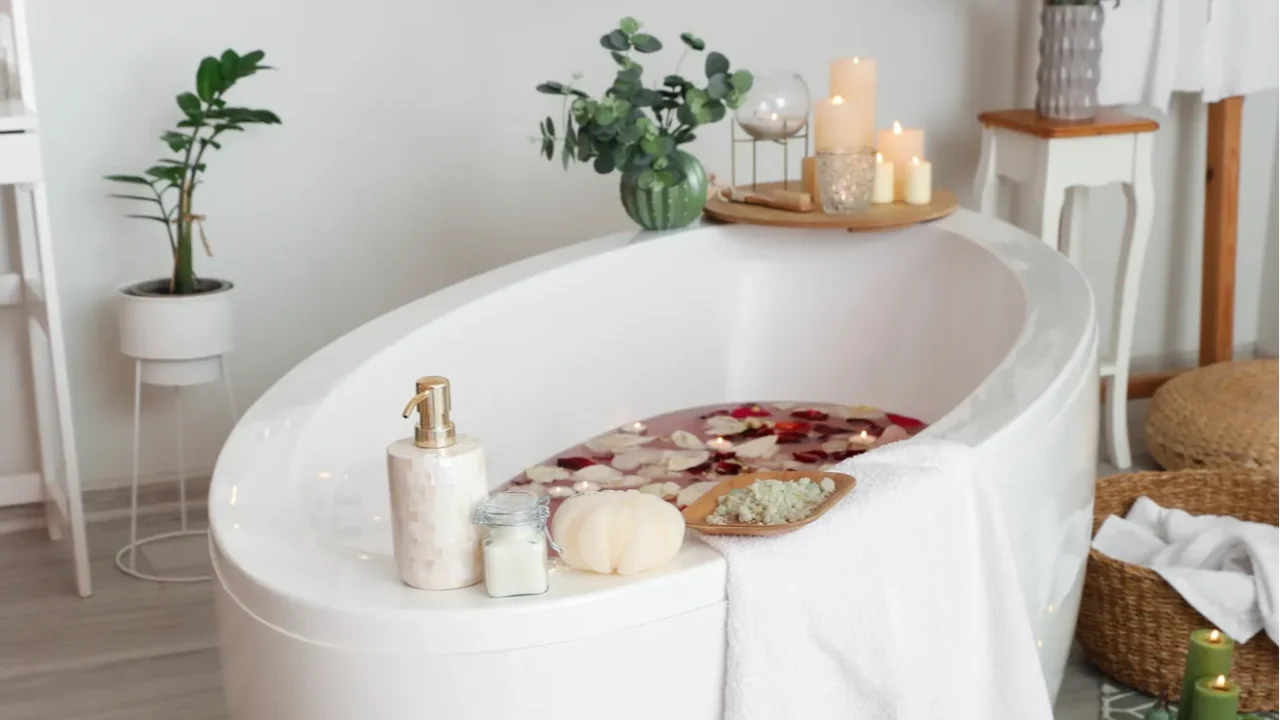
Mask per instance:
[[[1132,473],[1098,480],[1093,532],[1108,515],[1129,511],[1147,496],[1196,515],[1230,515],[1280,525],[1280,478],[1266,470]],[[1190,632],[1212,623],[1152,570],[1089,551],[1076,639],[1110,678],[1151,696],[1181,692]],[[1258,633],[1235,644],[1231,679],[1242,711],[1280,710],[1280,650]]]

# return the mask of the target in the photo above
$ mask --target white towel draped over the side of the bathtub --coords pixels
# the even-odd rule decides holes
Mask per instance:
[[[841,462],[854,492],[728,561],[724,720],[1050,720],[995,492],[974,452],[906,441]]]

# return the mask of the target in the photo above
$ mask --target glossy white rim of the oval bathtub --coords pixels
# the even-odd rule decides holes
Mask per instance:
[[[721,228],[723,225],[713,227]],[[960,210],[951,218],[933,223],[933,227],[959,234],[965,241],[986,249],[1014,274],[1025,296],[1028,316],[1024,316],[1023,328],[1006,356],[988,373],[973,393],[945,414],[928,430],[931,437],[948,437],[977,446],[997,433],[1009,432],[1032,409],[1051,401],[1055,387],[1070,382],[1070,375],[1076,375],[1070,370],[1079,369],[1080,356],[1093,337],[1092,328],[1087,327],[1093,323],[1093,296],[1083,275],[1065,258],[1012,225]],[[525,612],[494,612],[495,606],[488,598],[481,601],[484,607],[476,603],[472,609],[451,609],[458,610],[457,612],[439,611],[424,606],[420,591],[408,588],[402,588],[402,592],[416,594],[417,601],[413,601],[413,594],[406,594],[408,600],[397,607],[352,609],[325,602],[325,593],[316,592],[314,582],[310,584],[311,592],[300,592],[297,587],[279,582],[279,574],[271,571],[270,566],[265,571],[261,568],[255,568],[252,565],[255,560],[251,553],[252,546],[237,544],[234,539],[238,534],[238,525],[234,523],[236,515],[229,511],[230,505],[234,503],[234,483],[241,477],[239,473],[261,471],[257,468],[257,460],[271,459],[264,457],[268,454],[264,452],[264,446],[260,442],[261,433],[273,429],[276,432],[282,445],[270,443],[276,446],[270,451],[274,460],[292,460],[296,442],[306,421],[328,392],[366,361],[389,351],[394,338],[480,297],[541,273],[564,268],[634,242],[703,229],[705,227],[686,228],[673,233],[614,233],[497,268],[370,320],[291,369],[237,423],[215,466],[209,502],[210,550],[218,561],[219,583],[238,605],[260,621],[300,639],[307,639],[307,642],[361,650],[424,652],[424,638],[430,638],[429,644],[433,653],[493,652],[564,642],[637,626],[678,612],[723,602],[724,561],[709,546],[695,541],[687,543],[689,548],[681,553],[685,562],[681,562],[673,571],[652,575],[645,578],[643,583],[635,583],[650,585],[650,591],[664,588],[668,592],[657,594],[677,596],[680,602],[641,606],[641,603],[626,602],[625,600],[605,602],[600,597],[596,600],[602,600],[602,602],[595,602],[595,605],[608,606],[608,609],[589,614],[600,615],[600,618],[588,619],[586,614],[581,612],[581,605],[588,602],[586,597],[604,594],[590,591],[585,596],[559,598],[564,602],[536,606],[539,614],[548,615],[547,623],[538,624],[556,625],[553,616],[559,611],[564,612],[564,616],[573,618],[572,629],[559,624],[561,626],[554,633],[529,632],[527,628],[520,630],[513,625],[498,621],[497,625],[488,626],[486,632],[483,633],[458,632],[457,625],[476,624],[460,623],[462,620],[460,612],[467,618],[471,618],[468,614],[479,614],[474,618],[479,624],[497,620],[499,615],[524,618]],[[1044,293],[1050,292],[1052,287],[1066,288],[1075,293],[1069,300],[1083,299],[1084,302],[1062,302],[1061,299],[1047,299]],[[1083,295],[1079,295],[1082,291]],[[1043,305],[1038,305],[1038,302],[1043,302]],[[1070,323],[1075,332],[1068,333],[1074,337],[1074,343],[1068,343],[1069,347],[1064,347],[1062,352],[1052,357],[1056,361],[1055,370],[1048,377],[1039,378],[1043,380],[1042,387],[1014,388],[1034,392],[1030,401],[1020,405],[1006,402],[1002,406],[1006,410],[1004,416],[992,420],[984,415],[983,421],[974,421],[969,415],[972,415],[972,406],[975,401],[983,397],[995,397],[998,405],[997,396],[1000,393],[1009,395],[1010,383],[1016,384],[1021,380],[1025,384],[1027,378],[1010,378],[1009,375],[1011,361],[1016,359],[1019,350],[1039,337],[1033,323],[1028,322],[1030,313],[1033,310],[1053,313],[1061,307],[1069,309],[1070,315],[1079,318],[1074,318],[1075,322]],[[1088,318],[1087,323],[1080,319],[1084,316]],[[1043,329],[1044,323],[1041,323],[1039,327]],[[375,350],[362,350],[369,347]],[[1018,396],[1019,392],[1012,392],[1012,395]],[[965,421],[966,416],[969,416],[968,421]],[[246,465],[248,470],[246,470]],[[291,493],[293,489],[289,483],[280,483],[280,487],[283,489],[279,492]],[[246,557],[248,562],[243,562]],[[652,597],[655,593],[645,594]],[[620,603],[626,611],[618,611]],[[575,612],[575,607],[577,607],[577,612]],[[532,625],[527,623],[527,618],[524,620],[524,625]],[[454,625],[454,628],[451,629],[449,625]],[[416,628],[416,630],[410,632],[410,628]]]

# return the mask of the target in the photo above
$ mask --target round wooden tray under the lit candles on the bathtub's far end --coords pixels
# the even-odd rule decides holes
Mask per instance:
[[[787,183],[791,190],[800,188],[800,181]],[[742,186],[742,190],[749,190]],[[781,182],[762,182],[755,186],[754,192],[769,192],[782,190]],[[817,199],[815,199],[817,202]],[[933,202],[928,205],[908,205],[893,202],[891,205],[872,205],[861,213],[851,215],[828,215],[822,210],[813,213],[792,213],[790,210],[777,210],[760,205],[748,205],[745,202],[730,202],[713,197],[707,201],[703,210],[708,218],[722,223],[745,223],[750,225],[773,225],[780,228],[827,228],[847,229],[851,232],[874,232],[890,228],[902,228],[916,223],[927,223],[946,218],[956,211],[960,201],[955,193],[946,190],[933,191]]]

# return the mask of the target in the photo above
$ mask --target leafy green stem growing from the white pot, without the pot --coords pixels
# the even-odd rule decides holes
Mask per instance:
[[[129,214],[128,218],[154,220],[164,225],[169,234],[169,250],[173,252],[173,274],[169,279],[169,292],[187,295],[198,292],[192,252],[192,229],[204,222],[204,215],[192,210],[192,197],[201,183],[205,172],[205,152],[210,147],[221,149],[219,137],[228,132],[242,132],[246,126],[280,124],[280,118],[270,110],[239,108],[227,104],[227,91],[237,81],[247,78],[259,70],[269,70],[264,65],[266,56],[261,50],[243,55],[227,50],[219,58],[209,56],[200,61],[196,70],[195,92],[178,95],[178,109],[183,119],[160,136],[178,158],[163,158],[147,168],[141,176],[106,176],[106,179],[145,187],[147,195],[113,193],[111,197],[154,204],[154,214]],[[142,192],[138,190],[136,192]],[[204,225],[200,227],[201,240]],[[205,241],[205,251],[209,243]]]

